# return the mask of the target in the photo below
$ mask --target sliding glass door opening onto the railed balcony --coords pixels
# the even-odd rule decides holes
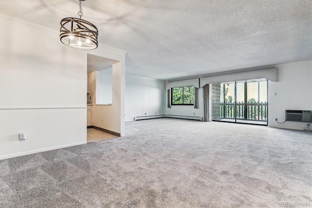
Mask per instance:
[[[212,84],[212,120],[268,125],[268,81]]]

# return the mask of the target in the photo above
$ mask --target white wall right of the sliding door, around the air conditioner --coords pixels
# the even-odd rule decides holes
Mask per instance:
[[[301,129],[307,122],[285,121],[285,110],[312,110],[312,62],[294,62],[276,65],[278,82],[268,84],[268,125]],[[274,93],[277,93],[274,96]]]

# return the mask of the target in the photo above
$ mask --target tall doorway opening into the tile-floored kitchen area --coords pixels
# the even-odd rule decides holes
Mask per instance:
[[[114,114],[113,67],[119,61],[87,54],[87,142],[117,137]],[[116,92],[115,92],[116,93]]]

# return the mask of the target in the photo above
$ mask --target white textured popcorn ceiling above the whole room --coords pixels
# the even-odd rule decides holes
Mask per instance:
[[[128,74],[170,80],[312,59],[312,0],[86,0],[82,9],[100,43],[128,51]],[[78,11],[78,0],[0,0],[1,13],[57,30]]]

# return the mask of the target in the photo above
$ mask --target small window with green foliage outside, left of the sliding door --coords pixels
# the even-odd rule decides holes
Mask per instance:
[[[171,92],[172,104],[194,104],[194,86],[175,87]]]

